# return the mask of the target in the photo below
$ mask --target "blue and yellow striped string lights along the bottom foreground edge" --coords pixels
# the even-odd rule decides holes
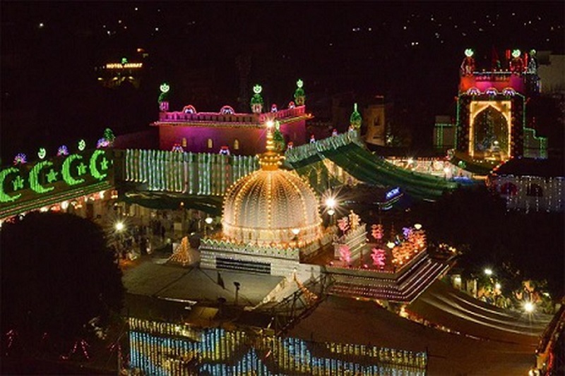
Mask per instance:
[[[423,376],[427,366],[424,352],[195,329],[134,317],[129,324],[130,369],[146,375]]]

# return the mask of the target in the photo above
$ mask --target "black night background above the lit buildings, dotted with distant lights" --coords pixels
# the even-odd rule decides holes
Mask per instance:
[[[489,69],[493,48],[503,57],[515,48],[563,54],[565,45],[560,1],[0,6],[3,165],[19,151],[95,142],[106,127],[147,129],[165,80],[173,110],[237,108],[238,56],[250,59],[247,85],[261,83],[267,104],[285,105],[302,78],[314,114],[352,91],[385,95],[430,127],[453,111],[465,48]],[[95,66],[122,56],[143,61],[141,87],[98,85]]]

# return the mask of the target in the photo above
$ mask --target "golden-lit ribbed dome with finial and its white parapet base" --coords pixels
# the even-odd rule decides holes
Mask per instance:
[[[296,172],[280,169],[284,157],[275,152],[272,128],[269,121],[261,169],[227,191],[222,234],[203,240],[202,267],[286,276],[301,256],[331,241],[312,188]]]

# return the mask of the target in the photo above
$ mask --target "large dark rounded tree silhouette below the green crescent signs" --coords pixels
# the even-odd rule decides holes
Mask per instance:
[[[63,213],[5,223],[1,240],[3,353],[69,351],[123,304],[121,270],[97,224]],[[8,334],[9,333],[9,334]],[[47,340],[46,340],[47,339]]]

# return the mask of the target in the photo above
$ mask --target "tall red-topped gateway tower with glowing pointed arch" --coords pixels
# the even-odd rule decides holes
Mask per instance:
[[[509,51],[508,51],[509,52]],[[528,97],[540,92],[535,51],[506,56],[509,68],[476,71],[472,49],[465,50],[457,98],[456,150],[472,159],[506,161],[547,158],[547,139],[528,128]]]

